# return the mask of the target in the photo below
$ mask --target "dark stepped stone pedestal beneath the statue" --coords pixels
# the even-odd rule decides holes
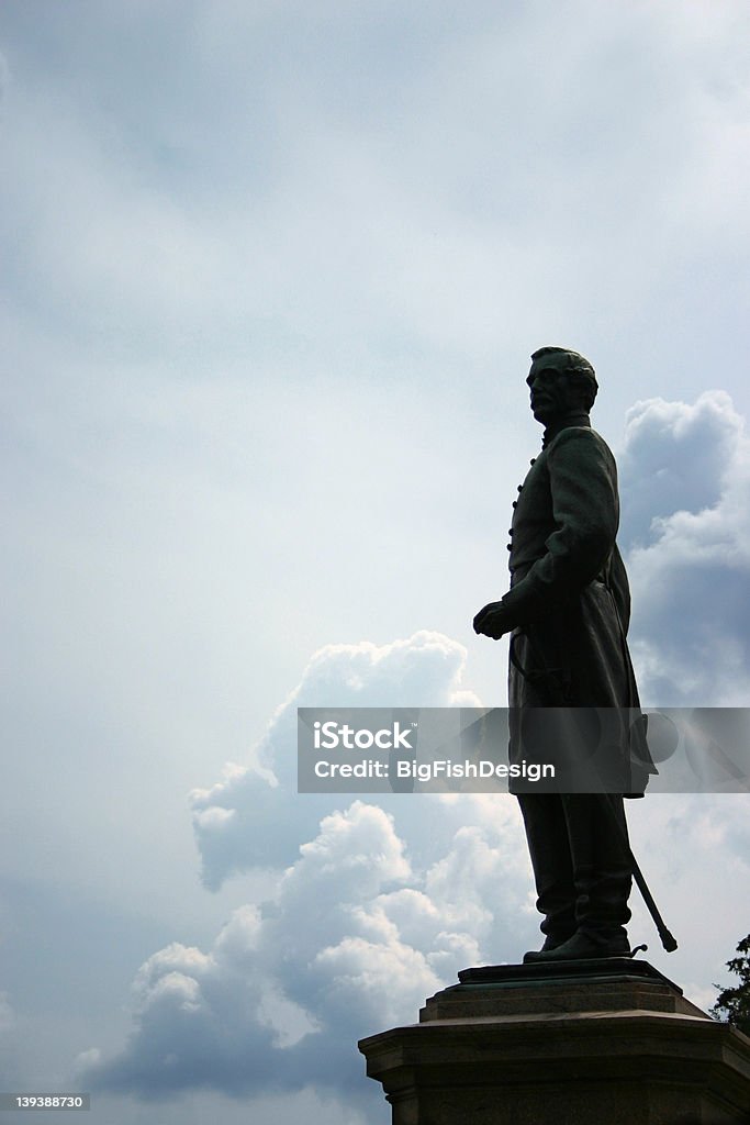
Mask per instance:
[[[750,1038],[648,962],[459,979],[359,1044],[392,1125],[750,1125]]]

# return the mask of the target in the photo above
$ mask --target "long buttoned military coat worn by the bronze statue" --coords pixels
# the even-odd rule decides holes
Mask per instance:
[[[587,424],[561,430],[532,461],[514,504],[510,590],[503,598],[506,620],[514,626],[512,762],[535,755],[528,731],[539,717],[524,716],[524,709],[639,708],[626,641],[630,590],[615,542],[618,523],[617,469],[606,442]],[[594,730],[598,720],[593,711],[560,712],[554,737],[558,744],[575,742],[567,747],[573,756],[580,756],[587,739],[604,738],[606,788],[612,791],[616,767],[617,791],[640,795],[654,770],[642,723],[633,734],[632,716],[606,712],[603,735]]]

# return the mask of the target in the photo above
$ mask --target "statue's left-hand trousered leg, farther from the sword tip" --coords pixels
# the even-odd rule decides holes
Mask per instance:
[[[566,942],[577,928],[576,886],[568,828],[558,793],[518,793],[536,883],[536,909],[544,915],[545,950]]]

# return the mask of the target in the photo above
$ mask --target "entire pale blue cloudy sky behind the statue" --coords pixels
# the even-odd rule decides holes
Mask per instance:
[[[378,1125],[356,1041],[537,944],[510,798],[293,770],[297,705],[506,703],[471,619],[536,348],[597,370],[643,701],[750,705],[749,38],[742,0],[4,0],[3,1090]],[[679,950],[635,897],[631,936],[704,1008],[749,812],[629,807]]]

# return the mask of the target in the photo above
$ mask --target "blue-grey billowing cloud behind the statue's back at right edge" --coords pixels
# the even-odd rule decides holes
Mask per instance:
[[[748,705],[750,443],[724,392],[627,415],[632,649],[653,705]]]

